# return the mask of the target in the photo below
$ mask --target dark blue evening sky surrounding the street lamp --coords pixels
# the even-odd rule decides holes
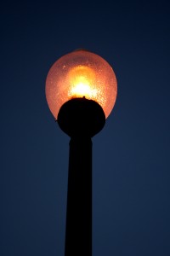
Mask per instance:
[[[0,13],[0,255],[64,256],[70,138],[45,80],[85,48],[118,82],[93,138],[93,256],[169,256],[169,1],[6,1]]]

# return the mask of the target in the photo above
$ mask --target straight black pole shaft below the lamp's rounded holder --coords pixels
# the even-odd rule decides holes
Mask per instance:
[[[92,256],[92,141],[71,137],[65,256]]]

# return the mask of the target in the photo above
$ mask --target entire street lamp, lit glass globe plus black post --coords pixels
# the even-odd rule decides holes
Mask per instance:
[[[69,137],[65,256],[92,255],[92,141],[116,102],[116,75],[99,55],[78,49],[50,68],[48,107]]]

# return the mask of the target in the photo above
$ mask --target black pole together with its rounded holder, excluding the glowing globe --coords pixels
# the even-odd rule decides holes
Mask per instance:
[[[105,125],[98,103],[72,99],[59,110],[59,127],[71,137],[65,256],[92,256],[92,141]]]

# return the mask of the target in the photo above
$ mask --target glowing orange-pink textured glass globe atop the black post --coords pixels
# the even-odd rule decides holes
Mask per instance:
[[[88,50],[78,49],[62,56],[48,72],[46,97],[55,119],[65,102],[81,97],[99,103],[107,118],[115,105],[116,94],[113,69],[102,57]]]

